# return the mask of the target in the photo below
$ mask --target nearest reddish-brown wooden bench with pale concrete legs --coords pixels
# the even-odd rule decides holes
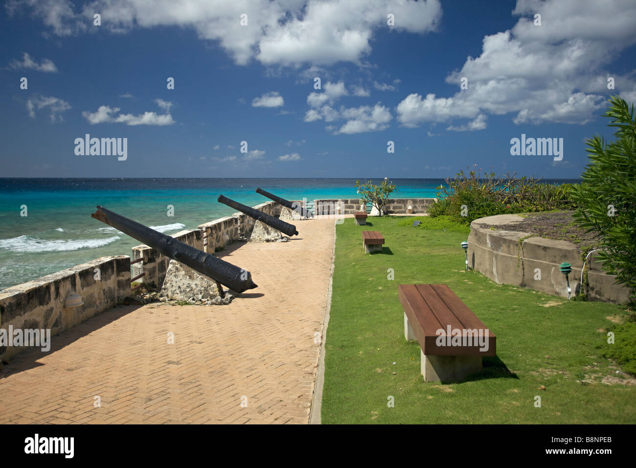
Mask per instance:
[[[426,382],[460,381],[495,356],[497,338],[446,285],[398,285],[404,337],[420,343]]]

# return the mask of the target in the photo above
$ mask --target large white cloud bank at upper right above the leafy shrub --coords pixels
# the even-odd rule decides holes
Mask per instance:
[[[539,11],[542,25],[534,25]],[[586,124],[598,117],[609,96],[604,67],[636,43],[636,3],[630,0],[518,0],[515,26],[483,39],[479,57],[446,77],[457,85],[452,97],[409,94],[397,106],[405,127],[453,118],[513,113],[516,124]],[[459,90],[462,77],[468,89]],[[621,77],[621,93],[636,96],[636,81]],[[470,130],[471,124],[448,129]]]

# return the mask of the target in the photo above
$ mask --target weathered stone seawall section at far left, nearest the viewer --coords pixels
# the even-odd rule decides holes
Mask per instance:
[[[95,269],[99,269],[99,280]],[[64,301],[71,294],[79,294],[84,304],[65,308]],[[130,257],[101,257],[4,289],[0,292],[0,328],[50,329],[53,336],[119,304],[128,295]],[[2,346],[0,359],[7,360],[24,349]]]

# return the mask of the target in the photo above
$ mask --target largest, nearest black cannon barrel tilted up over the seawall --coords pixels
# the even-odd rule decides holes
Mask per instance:
[[[224,262],[214,255],[150,229],[148,226],[125,216],[118,215],[103,206],[98,205],[97,211],[90,216],[121,230],[128,236],[154,248],[157,252],[163,253],[166,257],[177,260],[236,292],[244,292],[247,289],[257,287],[252,281],[252,275],[249,271]]]

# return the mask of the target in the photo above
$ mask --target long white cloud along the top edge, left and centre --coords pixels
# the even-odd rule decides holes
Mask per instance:
[[[315,66],[339,61],[361,63],[371,38],[386,28],[387,12],[396,16],[394,31],[423,34],[441,20],[439,0],[96,0],[75,11],[69,0],[10,1],[8,13],[31,10],[53,34],[86,31],[99,11],[102,28],[126,32],[135,27],[190,28],[200,39],[218,41],[235,63],[257,59],[266,65]],[[242,13],[248,25],[240,25]]]

